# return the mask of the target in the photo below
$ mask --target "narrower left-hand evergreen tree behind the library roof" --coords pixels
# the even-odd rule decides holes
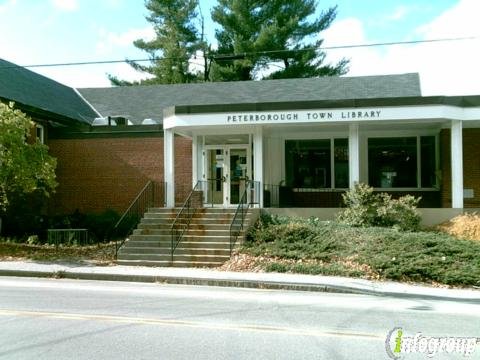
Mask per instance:
[[[139,39],[134,45],[146,51],[151,64],[127,62],[135,69],[153,75],[135,84],[176,84],[198,79],[189,70],[189,60],[201,46],[194,20],[197,0],[148,0],[145,4],[156,37],[151,41]],[[113,85],[132,85],[125,80],[108,75]]]

